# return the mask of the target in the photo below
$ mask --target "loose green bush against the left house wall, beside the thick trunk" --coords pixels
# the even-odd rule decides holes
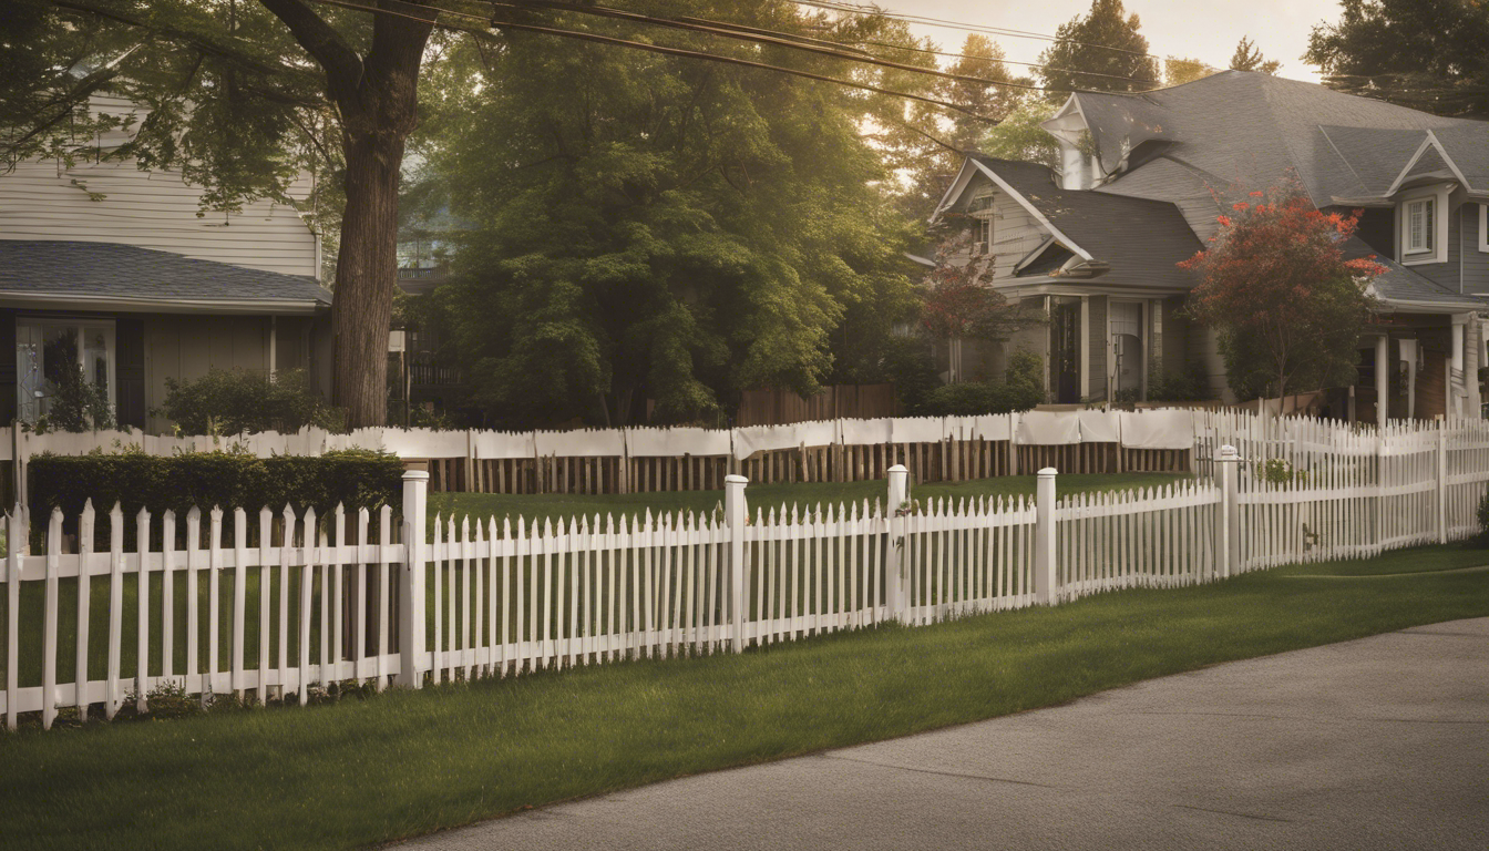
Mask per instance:
[[[345,411],[310,392],[304,370],[272,379],[246,370],[211,370],[195,382],[165,379],[165,401],[150,411],[180,434],[293,432],[302,426],[345,429]]]

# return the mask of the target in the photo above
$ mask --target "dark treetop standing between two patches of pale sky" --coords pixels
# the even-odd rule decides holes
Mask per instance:
[[[1160,82],[1158,61],[1144,55],[1148,52],[1148,39],[1138,33],[1139,25],[1138,15],[1127,15],[1121,0],[1091,0],[1087,16],[1077,15],[1068,24],[1060,24],[1056,30],[1059,40],[1039,55],[1044,85],[1057,89],[1050,97],[1063,101],[1071,89],[1154,88]]]

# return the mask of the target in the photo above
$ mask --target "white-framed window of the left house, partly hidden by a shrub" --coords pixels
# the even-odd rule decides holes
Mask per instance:
[[[51,411],[51,399],[67,364],[77,364],[83,380],[115,392],[112,320],[19,319],[15,326],[16,413],[36,422]]]

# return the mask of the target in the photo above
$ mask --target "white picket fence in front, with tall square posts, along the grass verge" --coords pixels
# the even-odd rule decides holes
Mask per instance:
[[[204,702],[304,703],[313,689],[348,681],[418,687],[739,651],[1477,531],[1486,423],[1312,437],[1248,438],[1275,453],[1291,440],[1306,478],[1266,483],[1264,456],[1222,447],[1208,478],[1060,501],[1045,469],[1033,501],[922,502],[896,466],[874,504],[750,516],[746,480],[730,477],[722,513],[466,517],[426,529],[427,474],[408,472],[402,520],[390,507],[319,519],[265,508],[256,523],[243,510],[192,510],[182,522],[115,508],[107,551],[94,551],[100,519],[89,507],[76,553],[64,551],[54,513],[37,554],[18,507],[7,519],[0,711],[10,727],[22,712],[49,727],[68,708],[86,715],[103,703],[112,718],[133,700],[147,711],[167,686]]]

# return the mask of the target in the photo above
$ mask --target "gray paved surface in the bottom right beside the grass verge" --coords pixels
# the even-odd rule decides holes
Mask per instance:
[[[649,785],[424,850],[1489,848],[1489,619]]]

